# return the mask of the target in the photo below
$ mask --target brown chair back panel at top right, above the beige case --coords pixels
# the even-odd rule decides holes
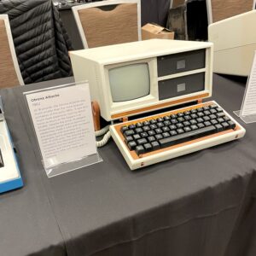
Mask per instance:
[[[212,22],[224,20],[253,9],[253,0],[212,0]]]

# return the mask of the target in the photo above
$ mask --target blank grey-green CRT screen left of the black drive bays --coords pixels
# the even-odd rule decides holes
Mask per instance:
[[[150,93],[148,63],[111,68],[108,77],[113,102],[131,101]]]

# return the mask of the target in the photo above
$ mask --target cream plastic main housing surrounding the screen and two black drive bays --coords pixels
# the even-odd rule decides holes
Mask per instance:
[[[158,57],[166,55],[171,55],[172,57],[172,55],[178,53],[186,53],[198,49],[205,49],[205,65],[203,68],[165,76],[158,75]],[[151,39],[73,51],[70,53],[70,57],[75,81],[89,81],[91,100],[98,102],[102,118],[108,121],[212,96],[211,43]],[[149,94],[131,101],[113,102],[108,77],[109,70],[114,67],[125,67],[137,63],[148,64]],[[196,73],[204,74],[204,90],[160,100],[158,85],[160,81],[177,79]],[[128,79],[131,75],[130,73],[127,74],[124,79]]]

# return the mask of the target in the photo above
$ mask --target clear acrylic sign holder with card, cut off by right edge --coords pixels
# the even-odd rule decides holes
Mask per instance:
[[[247,79],[247,86],[241,103],[241,110],[234,111],[246,123],[256,122],[256,55],[254,52],[253,66]]]

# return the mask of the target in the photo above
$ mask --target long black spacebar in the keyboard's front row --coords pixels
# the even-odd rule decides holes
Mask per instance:
[[[160,139],[159,143],[161,148],[166,148],[166,147],[176,145],[178,143],[188,142],[198,137],[207,136],[209,134],[215,133],[216,131],[217,129],[215,128],[215,126],[210,125],[195,131],[189,131],[173,137],[166,137],[166,138]]]

